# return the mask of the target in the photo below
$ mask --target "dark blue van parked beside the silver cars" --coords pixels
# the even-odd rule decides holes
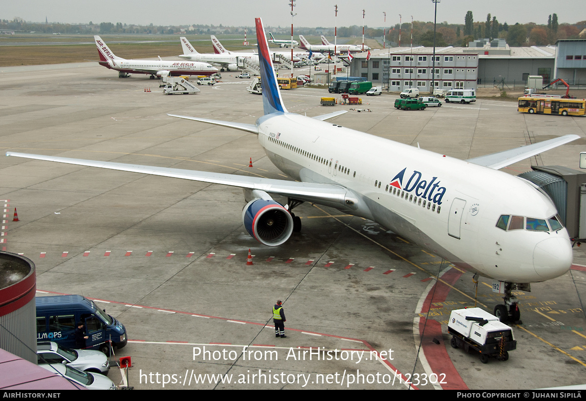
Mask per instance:
[[[128,341],[126,328],[115,318],[81,295],[36,297],[37,341],[55,341],[76,348],[77,322],[84,322],[88,339],[86,349],[99,349],[109,355],[109,341],[122,348]]]

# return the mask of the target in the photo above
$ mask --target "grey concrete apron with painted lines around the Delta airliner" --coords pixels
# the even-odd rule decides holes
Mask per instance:
[[[253,124],[261,97],[236,75],[222,73],[199,94],[165,96],[158,80],[119,79],[97,63],[5,67],[2,154],[285,179],[255,135],[166,115]],[[586,144],[586,118],[520,114],[498,100],[400,111],[386,93],[333,108],[319,106],[329,96],[323,89],[282,96],[289,111],[309,116],[359,108],[332,121],[462,159],[582,137],[504,169],[514,175],[532,164],[578,169]],[[517,349],[509,360],[482,364],[475,352],[449,346],[447,321],[455,308],[492,312],[502,301],[492,282],[481,278],[476,287],[471,273],[369,220],[304,203],[295,209],[302,232],[265,247],[244,230],[237,188],[4,155],[0,172],[2,249],[35,262],[38,296],[82,294],[125,325],[129,342],[116,358],[131,356],[137,389],[532,389],[586,381],[586,256],[578,247],[574,269],[517,293],[522,324],[511,324]],[[272,328],[278,299],[284,339]],[[119,381],[118,372],[109,376]]]

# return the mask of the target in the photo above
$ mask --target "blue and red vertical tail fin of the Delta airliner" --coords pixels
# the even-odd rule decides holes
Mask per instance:
[[[257,31],[258,64],[260,65],[260,77],[263,85],[264,114],[287,113],[283,104],[281,92],[277,84],[277,75],[272,67],[271,53],[268,51],[267,36],[264,34],[263,20],[254,19]]]

